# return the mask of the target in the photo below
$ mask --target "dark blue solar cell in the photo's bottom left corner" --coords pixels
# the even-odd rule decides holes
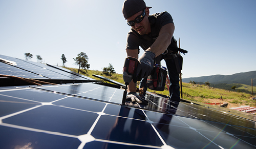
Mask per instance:
[[[7,124],[6,124],[7,125]],[[71,135],[53,135],[50,132],[0,125],[1,148],[77,148],[81,143]],[[3,136],[6,134],[6,136]],[[5,142],[5,143],[3,143]]]

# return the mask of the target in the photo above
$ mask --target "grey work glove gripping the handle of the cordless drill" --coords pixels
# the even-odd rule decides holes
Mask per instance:
[[[137,67],[137,77],[134,80],[141,80],[142,78],[147,77],[153,70],[154,67],[154,58],[155,53],[151,51],[145,51],[138,59],[138,67]]]

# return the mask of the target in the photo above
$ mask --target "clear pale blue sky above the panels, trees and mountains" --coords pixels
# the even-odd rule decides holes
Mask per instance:
[[[113,65],[122,73],[126,35],[122,0],[0,1],[2,55],[77,68],[73,58],[89,57],[90,70]],[[256,70],[255,0],[145,0],[150,14],[169,12],[183,55],[183,78],[231,75]],[[141,52],[142,53],[142,49]],[[164,64],[164,60],[162,64]]]

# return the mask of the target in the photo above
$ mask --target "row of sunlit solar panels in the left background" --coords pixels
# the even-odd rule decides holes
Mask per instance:
[[[62,67],[0,55],[0,74],[30,79],[94,80]]]

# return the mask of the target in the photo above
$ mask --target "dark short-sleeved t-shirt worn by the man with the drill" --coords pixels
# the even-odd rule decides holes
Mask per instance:
[[[140,35],[135,30],[131,29],[127,34],[126,49],[139,49],[139,46],[143,50],[148,49],[154,43],[160,32],[160,29],[166,24],[173,23],[173,17],[166,11],[152,14],[148,16],[148,19],[151,23],[151,33],[148,35]]]

